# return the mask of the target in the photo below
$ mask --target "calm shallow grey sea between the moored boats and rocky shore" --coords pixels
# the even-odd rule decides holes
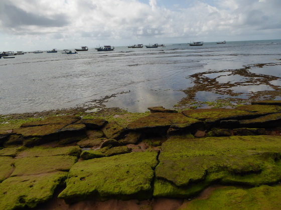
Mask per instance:
[[[189,75],[237,69],[254,63],[280,62],[281,40],[167,44],[158,48],[117,46],[114,51],[94,48],[78,54],[26,53],[0,59],[0,114],[85,106],[116,94],[105,103],[129,111],[171,108],[193,85]],[[263,72],[280,77],[280,65]],[[233,78],[231,78],[233,80]],[[125,92],[125,93],[124,93]],[[121,93],[121,94],[119,94]],[[213,93],[210,93],[210,97]],[[200,100],[200,94],[198,96]],[[208,92],[204,93],[208,98]]]

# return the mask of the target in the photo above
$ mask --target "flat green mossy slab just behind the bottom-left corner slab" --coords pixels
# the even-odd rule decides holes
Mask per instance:
[[[54,171],[69,171],[77,161],[76,156],[31,156],[15,159],[15,170],[11,176],[32,175]]]

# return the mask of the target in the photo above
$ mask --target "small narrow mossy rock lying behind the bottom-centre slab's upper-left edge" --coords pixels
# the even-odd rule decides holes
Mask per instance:
[[[129,153],[130,151],[131,149],[127,146],[116,146],[112,148],[111,146],[106,146],[96,150],[84,150],[82,151],[80,156],[83,159],[92,159],[98,157],[113,156],[116,154]]]

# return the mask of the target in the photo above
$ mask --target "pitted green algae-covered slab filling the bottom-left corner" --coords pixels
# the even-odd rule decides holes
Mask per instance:
[[[0,209],[33,208],[52,198],[67,172],[10,177],[0,183]]]

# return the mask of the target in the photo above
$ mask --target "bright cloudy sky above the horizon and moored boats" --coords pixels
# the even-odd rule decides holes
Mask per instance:
[[[0,0],[0,51],[281,39],[281,0]]]

